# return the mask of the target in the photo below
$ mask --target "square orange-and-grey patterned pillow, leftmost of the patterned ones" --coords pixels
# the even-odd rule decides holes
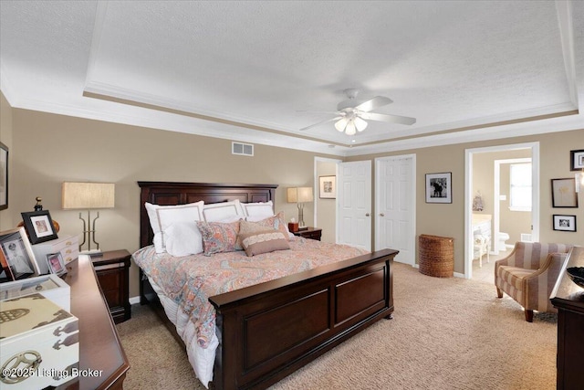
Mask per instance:
[[[237,245],[239,221],[229,223],[198,221],[197,227],[203,236],[203,253],[206,256],[242,249]]]

